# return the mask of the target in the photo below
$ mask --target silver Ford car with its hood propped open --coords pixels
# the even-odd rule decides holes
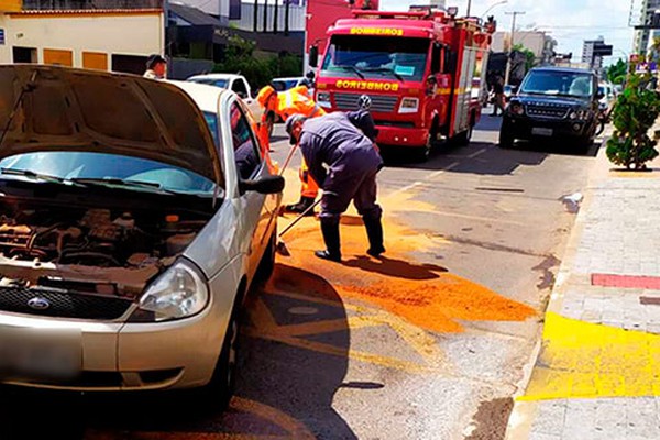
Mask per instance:
[[[233,92],[173,82],[0,66],[1,382],[229,400],[284,180]]]

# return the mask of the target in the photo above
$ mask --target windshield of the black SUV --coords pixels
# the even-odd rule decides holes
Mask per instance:
[[[593,95],[590,74],[573,72],[530,72],[520,87],[522,94],[561,95],[586,98]]]

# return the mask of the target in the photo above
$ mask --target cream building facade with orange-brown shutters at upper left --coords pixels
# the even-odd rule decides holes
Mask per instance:
[[[0,10],[0,63],[142,74],[165,51],[161,0],[24,0]]]

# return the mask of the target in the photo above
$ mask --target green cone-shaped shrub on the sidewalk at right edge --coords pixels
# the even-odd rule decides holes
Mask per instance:
[[[651,76],[630,75],[613,110],[614,133],[607,141],[607,157],[626,168],[644,169],[658,156],[658,141],[648,135],[660,114],[660,97],[647,86]]]

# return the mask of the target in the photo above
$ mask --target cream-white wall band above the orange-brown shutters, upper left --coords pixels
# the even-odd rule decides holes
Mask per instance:
[[[150,55],[165,50],[164,16],[158,14],[0,15],[6,44],[0,63],[12,63],[12,46],[73,51],[74,67],[82,67],[82,52]]]

